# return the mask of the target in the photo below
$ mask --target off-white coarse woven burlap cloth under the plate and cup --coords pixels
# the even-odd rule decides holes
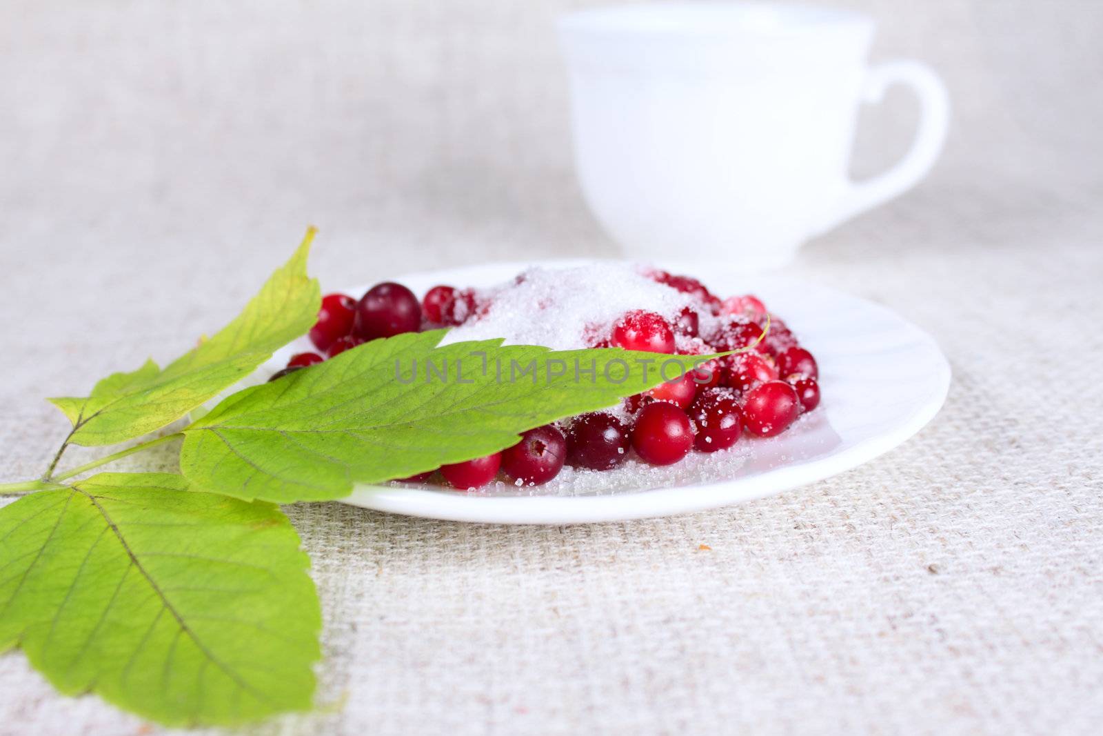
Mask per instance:
[[[614,255],[570,169],[549,26],[570,4],[6,2],[0,480],[65,431],[41,397],[186,349],[307,222],[331,286]],[[1097,733],[1103,11],[850,4],[882,23],[875,56],[946,77],[953,134],[918,190],[792,273],[931,331],[954,371],[939,417],[857,470],[681,518],[289,508],[322,708],[250,733]],[[901,94],[864,116],[859,172],[913,114]],[[2,734],[151,730],[0,657]]]

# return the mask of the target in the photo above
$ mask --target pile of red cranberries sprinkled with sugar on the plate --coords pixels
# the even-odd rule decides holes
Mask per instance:
[[[705,364],[697,372],[624,399],[619,410],[595,412],[529,429],[521,441],[494,455],[446,465],[440,477],[460,490],[481,488],[500,473],[517,486],[539,486],[565,465],[610,470],[634,450],[640,460],[668,466],[690,450],[724,450],[743,435],[773,437],[820,404],[815,358],[784,322],[751,295],[720,299],[689,276],[647,276],[687,295],[690,306],[674,318],[645,310],[623,314],[608,329],[588,333],[595,348],[704,355],[748,349]],[[523,277],[518,277],[520,279]],[[478,320],[490,302],[472,289],[436,286],[419,301],[390,281],[355,300],[343,294],[322,299],[310,340],[318,352],[298,353],[270,381],[350,348],[403,332],[456,327]],[[708,320],[702,320],[707,314]],[[702,323],[711,327],[702,332]],[[425,472],[405,479],[427,481]]]

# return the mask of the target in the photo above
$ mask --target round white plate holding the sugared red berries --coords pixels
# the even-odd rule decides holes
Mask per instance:
[[[533,265],[586,263],[593,262],[494,264],[395,280],[420,295],[437,284],[492,286]],[[741,275],[717,266],[705,271],[700,266],[657,265],[700,277],[719,295],[749,292],[762,298],[815,354],[821,407],[779,437],[741,439],[725,451],[732,454],[728,459],[717,457],[724,452],[692,454],[687,461],[664,469],[665,474],[656,472],[661,488],[640,488],[636,481],[634,487],[608,490],[602,473],[592,490],[579,490],[581,478],[569,491],[547,487],[518,491],[504,483],[470,493],[358,484],[341,501],[429,519],[504,524],[620,521],[700,511],[805,486],[868,462],[919,431],[945,401],[950,365],[938,344],[885,307],[778,276]],[[365,289],[347,292],[358,296]],[[285,348],[267,367],[282,367],[291,353],[303,349],[304,341]]]

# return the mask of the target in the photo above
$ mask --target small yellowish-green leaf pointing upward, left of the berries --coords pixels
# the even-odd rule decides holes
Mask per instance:
[[[148,361],[115,373],[86,397],[51,398],[73,423],[69,441],[114,445],[179,419],[190,409],[251,373],[272,351],[303,334],[318,319],[321,292],[307,277],[314,231],[277,270],[245,310],[210,340],[164,370]]]

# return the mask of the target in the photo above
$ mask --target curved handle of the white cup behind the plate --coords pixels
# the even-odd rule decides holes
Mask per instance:
[[[840,202],[818,232],[831,230],[844,220],[902,194],[922,179],[939,158],[950,122],[950,96],[945,85],[927,64],[892,61],[871,67],[863,85],[861,100],[879,103],[887,88],[900,83],[910,85],[920,103],[919,130],[911,149],[885,173],[864,182],[848,183]]]

